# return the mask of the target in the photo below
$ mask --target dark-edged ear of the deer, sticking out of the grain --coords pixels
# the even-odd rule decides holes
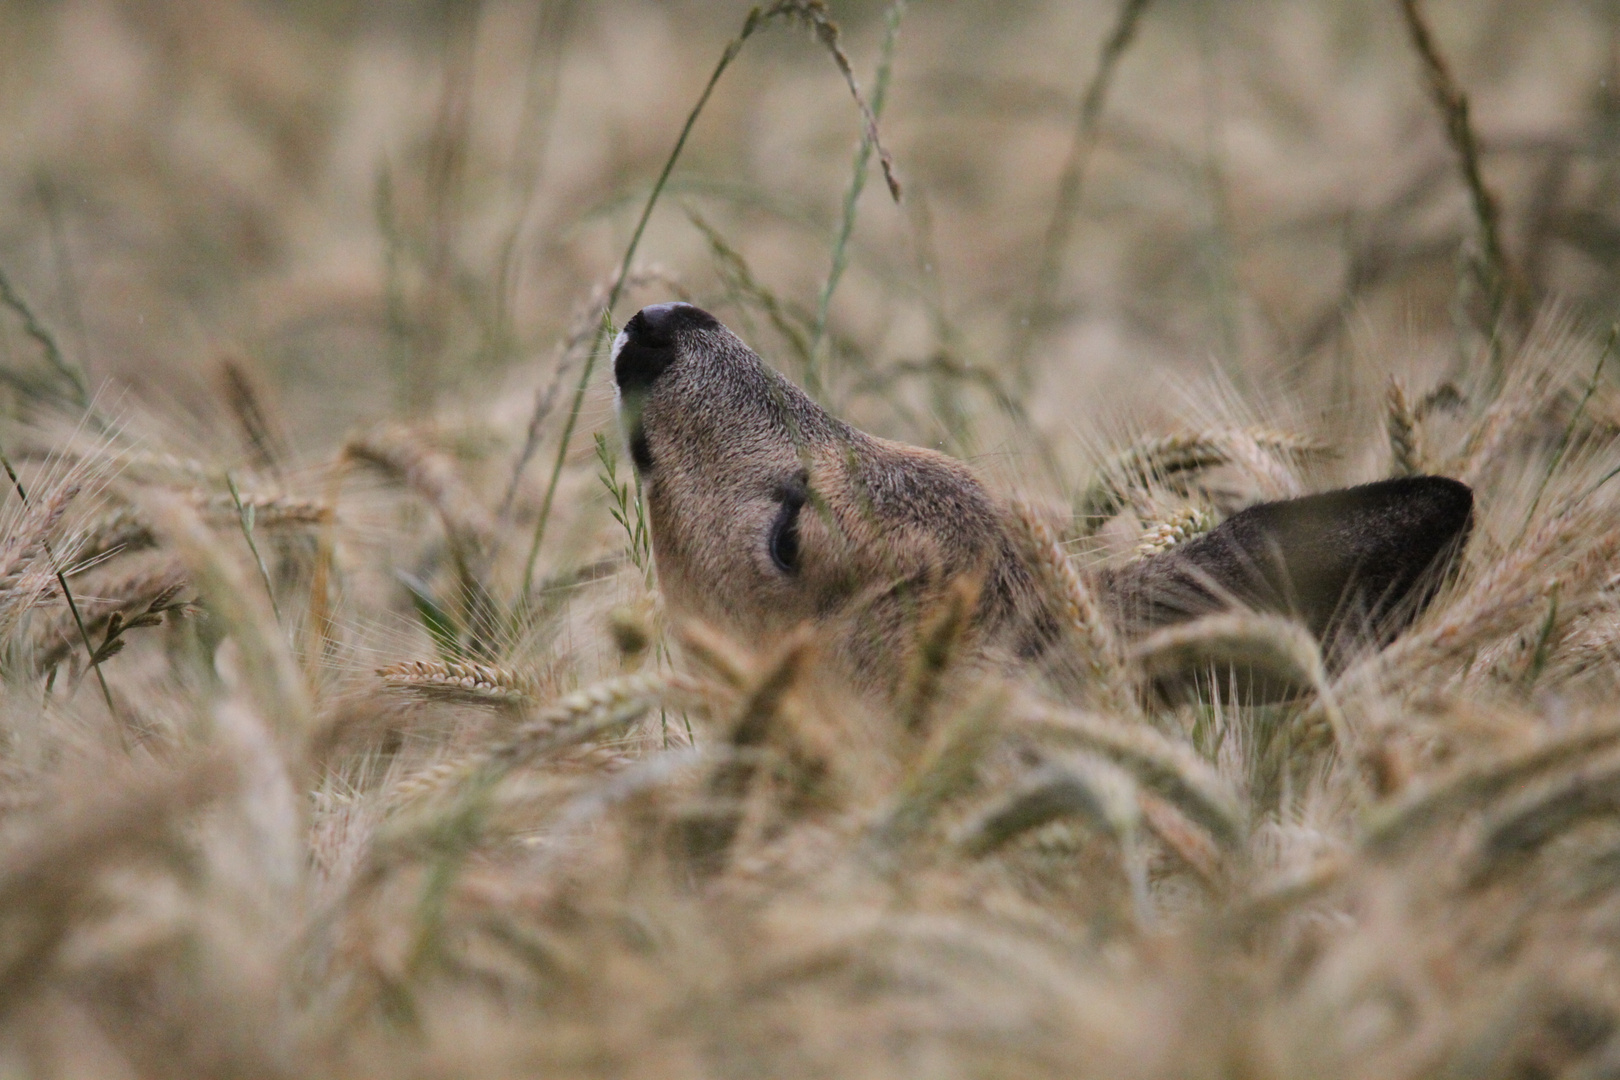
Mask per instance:
[[[1115,596],[1136,631],[1236,606],[1294,615],[1330,646],[1382,643],[1434,597],[1473,510],[1468,486],[1440,476],[1267,502],[1132,563]]]

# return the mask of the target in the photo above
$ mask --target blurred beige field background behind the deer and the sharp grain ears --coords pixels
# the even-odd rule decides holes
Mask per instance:
[[[897,206],[875,160],[852,189],[862,121],[828,52],[761,29],[697,120],[616,319],[688,296],[857,423],[990,471],[1221,387],[1298,413],[1379,392],[1379,358],[1443,377],[1477,348],[1477,230],[1398,5],[1140,8],[1077,154],[1118,3],[829,3]],[[1607,325],[1620,3],[1426,11],[1526,296]],[[565,368],[556,437],[570,327],[593,325],[745,15],[5,0],[0,270],[115,413],[215,429],[230,361],[301,455],[405,415],[460,418],[509,460]],[[1055,214],[1066,170],[1072,214]],[[55,377],[16,311],[0,369],[13,411]],[[601,371],[580,455],[609,419]]]

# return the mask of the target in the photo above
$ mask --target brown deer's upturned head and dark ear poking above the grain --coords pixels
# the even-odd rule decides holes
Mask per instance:
[[[982,651],[1061,659],[1061,615],[1013,507],[961,461],[828,416],[690,304],[632,317],[614,377],[676,612],[750,640],[834,627],[860,682],[893,687],[919,619],[966,575],[983,583]],[[1251,606],[1319,636],[1382,638],[1427,599],[1469,513],[1468,489],[1435,478],[1265,504],[1090,586],[1128,636]]]

